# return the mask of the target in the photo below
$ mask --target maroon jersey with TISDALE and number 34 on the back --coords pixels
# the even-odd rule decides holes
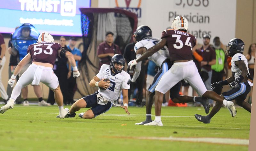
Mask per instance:
[[[180,30],[164,30],[171,61],[192,60],[192,48],[196,45],[196,37]]]

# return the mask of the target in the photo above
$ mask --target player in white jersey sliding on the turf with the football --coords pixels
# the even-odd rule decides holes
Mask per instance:
[[[65,117],[75,117],[76,111],[80,108],[91,107],[85,113],[80,113],[81,118],[93,118],[102,113],[107,112],[114,102],[117,100],[121,91],[123,94],[123,103],[125,112],[129,115],[128,111],[128,89],[130,84],[127,84],[131,76],[123,71],[125,65],[124,57],[121,54],[115,54],[110,61],[110,65],[103,64],[100,67],[99,73],[90,81],[91,87],[100,87],[94,94],[87,95],[82,99],[77,100],[68,110]],[[106,81],[109,79],[110,81]],[[59,115],[57,116],[59,117]]]

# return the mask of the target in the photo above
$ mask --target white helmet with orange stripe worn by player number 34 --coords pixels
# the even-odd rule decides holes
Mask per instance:
[[[175,17],[175,19],[172,21],[172,29],[188,31],[188,20],[183,16]]]

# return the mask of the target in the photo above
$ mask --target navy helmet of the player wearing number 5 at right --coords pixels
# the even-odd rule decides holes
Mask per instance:
[[[244,52],[244,42],[241,39],[234,38],[228,42],[226,55],[233,57],[236,53]]]

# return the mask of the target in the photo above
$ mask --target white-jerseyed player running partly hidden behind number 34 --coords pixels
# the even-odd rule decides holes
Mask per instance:
[[[136,53],[137,59],[140,58],[140,56],[146,52],[149,48],[156,45],[160,39],[159,38],[152,38],[152,31],[148,26],[140,26],[136,29],[134,33],[134,37],[136,39],[136,44],[134,46],[134,51]],[[168,48],[164,46],[161,50],[154,53],[152,56],[148,57],[149,60],[156,63],[158,67],[161,67],[161,69],[157,72],[157,74],[154,76],[153,82],[150,84],[147,95],[146,95],[146,120],[140,123],[135,123],[136,125],[144,125],[146,123],[152,122],[151,119],[151,108],[153,105],[153,97],[155,94],[155,88],[160,81],[161,77],[166,73],[171,67],[172,63],[170,61],[170,55]],[[131,82],[135,82],[138,76],[140,75],[140,69],[141,69],[141,62],[136,64],[135,72],[133,74]],[[177,83],[172,89],[170,90],[170,97],[173,102],[175,103],[187,103],[187,102],[193,102],[197,101],[202,103],[205,109],[205,113],[209,113],[209,102],[208,99],[204,99],[201,97],[189,97],[189,96],[180,96],[180,82]]]

